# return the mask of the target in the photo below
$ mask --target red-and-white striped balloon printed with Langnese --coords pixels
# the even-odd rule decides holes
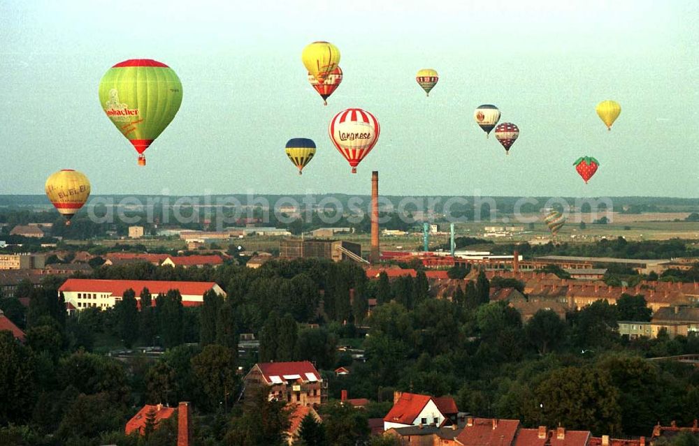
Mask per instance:
[[[361,108],[348,108],[335,115],[328,128],[330,139],[349,161],[352,173],[379,139],[379,121]]]

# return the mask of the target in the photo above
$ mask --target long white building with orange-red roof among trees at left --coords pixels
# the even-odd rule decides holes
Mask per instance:
[[[107,309],[120,302],[124,291],[134,290],[136,300],[140,301],[140,292],[147,288],[152,295],[152,305],[155,297],[166,294],[170,290],[179,290],[182,295],[182,305],[199,306],[204,302],[204,294],[210,290],[218,295],[226,296],[226,292],[215,282],[178,282],[178,281],[121,281],[91,278],[69,278],[58,290],[63,292],[66,307],[72,305],[78,311],[86,308]]]

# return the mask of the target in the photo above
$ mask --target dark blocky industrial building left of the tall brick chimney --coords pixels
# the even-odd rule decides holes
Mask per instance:
[[[325,258],[333,262],[341,260],[366,262],[361,258],[360,244],[343,240],[284,239],[279,244],[279,257],[282,259]]]

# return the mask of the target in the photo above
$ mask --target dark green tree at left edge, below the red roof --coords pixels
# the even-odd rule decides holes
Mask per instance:
[[[10,332],[0,332],[0,382],[0,425],[26,422],[35,401],[34,364]]]

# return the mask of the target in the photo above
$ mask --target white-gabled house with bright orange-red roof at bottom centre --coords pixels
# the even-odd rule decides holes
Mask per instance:
[[[456,403],[450,397],[394,392],[394,406],[384,417],[384,431],[405,426],[444,426],[456,421]]]

